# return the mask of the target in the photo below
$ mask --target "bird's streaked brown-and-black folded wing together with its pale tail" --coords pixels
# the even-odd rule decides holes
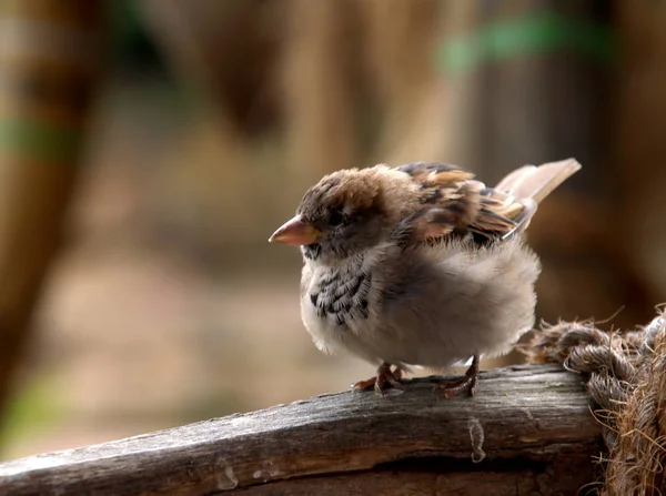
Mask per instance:
[[[573,159],[526,165],[487,188],[456,165],[416,162],[397,170],[422,192],[420,210],[406,220],[410,241],[437,241],[472,233],[477,241],[507,239],[526,229],[538,202],[581,169]]]

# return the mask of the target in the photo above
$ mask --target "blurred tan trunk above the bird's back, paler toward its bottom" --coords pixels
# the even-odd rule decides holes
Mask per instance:
[[[446,122],[433,53],[436,0],[356,0],[363,19],[370,94],[380,135],[369,163],[442,160]]]

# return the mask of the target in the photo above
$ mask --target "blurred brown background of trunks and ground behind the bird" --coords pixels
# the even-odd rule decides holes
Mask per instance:
[[[531,226],[538,316],[647,323],[665,21],[658,0],[0,0],[0,459],[367,378],[312,345],[300,254],[266,243],[336,169],[493,183],[575,156]]]

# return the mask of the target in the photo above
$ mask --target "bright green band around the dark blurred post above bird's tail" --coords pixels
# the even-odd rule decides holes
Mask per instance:
[[[445,72],[463,73],[490,61],[563,49],[609,64],[617,57],[617,40],[607,26],[539,12],[492,22],[475,33],[447,40],[437,58]]]

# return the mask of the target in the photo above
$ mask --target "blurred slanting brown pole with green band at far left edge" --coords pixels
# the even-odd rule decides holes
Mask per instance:
[[[0,407],[78,173],[101,3],[0,3]]]

